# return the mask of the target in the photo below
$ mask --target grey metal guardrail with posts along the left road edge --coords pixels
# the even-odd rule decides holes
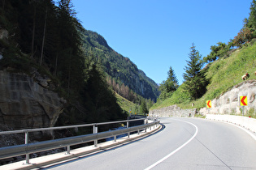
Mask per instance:
[[[129,121],[140,121],[144,120],[145,125],[137,125],[133,127],[129,127]],[[111,130],[98,133],[98,125],[107,125],[113,123],[122,123],[127,122],[127,128],[122,130]],[[52,127],[52,128],[41,128],[41,129],[30,129],[30,130],[13,130],[13,131],[2,131],[0,134],[19,134],[25,133],[25,144],[11,146],[11,147],[1,147],[0,148],[0,159],[6,159],[10,157],[15,157],[18,155],[26,155],[26,164],[29,164],[29,154],[37,153],[40,151],[49,151],[51,149],[57,149],[61,147],[67,147],[67,154],[70,154],[70,146],[94,141],[94,147],[98,147],[98,140],[103,138],[114,137],[116,141],[116,136],[120,134],[128,134],[128,138],[131,132],[137,131],[140,133],[140,130],[149,128],[154,125],[158,125],[159,121],[154,119],[154,122],[148,123],[147,118],[136,119],[136,120],[125,120],[125,121],[111,121],[104,123],[94,123],[94,124],[85,124],[85,125],[69,125],[69,126],[60,126],[60,127]],[[93,126],[93,134],[85,134],[75,137],[69,138],[59,138],[53,139],[44,142],[32,142],[28,143],[28,133],[36,132],[36,131],[44,131],[44,130],[61,130],[67,128],[77,128],[77,127],[85,127],[85,126]]]

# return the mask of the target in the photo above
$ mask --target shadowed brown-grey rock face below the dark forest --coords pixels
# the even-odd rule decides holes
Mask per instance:
[[[13,130],[54,126],[65,100],[48,90],[49,79],[0,70],[0,124]]]

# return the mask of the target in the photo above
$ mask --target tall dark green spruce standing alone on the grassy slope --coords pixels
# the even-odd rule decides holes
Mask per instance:
[[[194,44],[190,48],[188,66],[185,66],[184,78],[184,90],[188,91],[192,100],[196,100],[206,92],[206,75],[202,70],[200,53],[196,50]]]

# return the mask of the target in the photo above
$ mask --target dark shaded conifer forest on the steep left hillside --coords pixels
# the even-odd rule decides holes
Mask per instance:
[[[54,91],[67,100],[56,125],[124,120],[106,74],[83,49],[83,28],[70,0],[2,0],[0,69],[50,77]]]

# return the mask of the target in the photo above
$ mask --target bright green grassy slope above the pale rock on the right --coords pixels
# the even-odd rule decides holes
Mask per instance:
[[[256,43],[245,46],[242,49],[236,49],[230,57],[221,58],[210,63],[206,77],[210,79],[207,86],[207,92],[198,100],[189,100],[187,94],[183,91],[183,84],[174,92],[171,98],[162,103],[156,103],[150,109],[163,108],[169,105],[177,104],[180,108],[202,108],[206,106],[206,100],[213,100],[223,92],[228,91],[237,83],[241,83],[241,76],[249,73],[249,79],[256,79]],[[194,107],[191,106],[194,103]]]

